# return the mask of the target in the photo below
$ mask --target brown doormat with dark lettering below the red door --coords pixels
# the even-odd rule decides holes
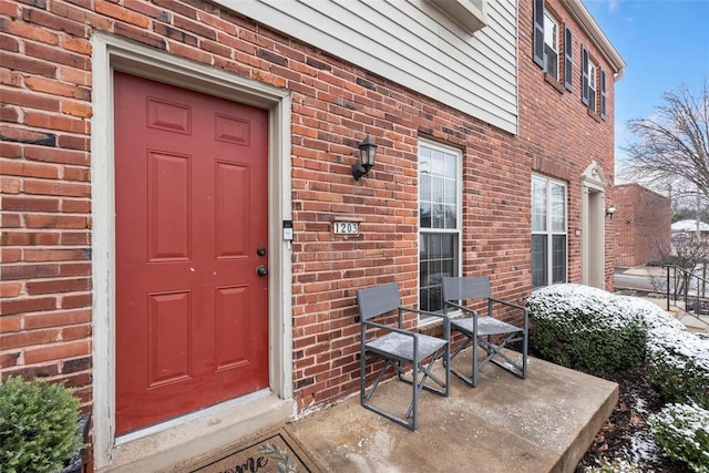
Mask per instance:
[[[302,445],[284,429],[251,438],[203,460],[189,473],[319,473]]]

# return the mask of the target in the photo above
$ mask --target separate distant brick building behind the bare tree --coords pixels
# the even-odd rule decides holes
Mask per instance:
[[[670,198],[635,183],[615,186],[614,195],[616,266],[660,261],[671,241]]]

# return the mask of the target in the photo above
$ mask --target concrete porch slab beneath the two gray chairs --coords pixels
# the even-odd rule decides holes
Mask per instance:
[[[379,389],[380,402],[407,409],[409,384]],[[618,385],[531,358],[526,380],[487,364],[476,388],[452,376],[449,398],[422,392],[419,400],[415,432],[363,409],[359,395],[288,429],[332,472],[573,472],[613,412]]]

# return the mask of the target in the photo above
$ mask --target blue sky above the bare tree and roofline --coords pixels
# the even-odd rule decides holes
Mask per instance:
[[[626,123],[646,119],[662,93],[687,86],[699,96],[709,81],[709,0],[584,0],[626,62],[615,84],[616,171],[633,135]],[[616,179],[617,181],[617,179]]]

